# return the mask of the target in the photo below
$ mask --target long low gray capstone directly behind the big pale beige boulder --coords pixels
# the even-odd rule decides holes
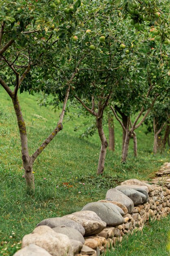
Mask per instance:
[[[82,234],[82,236],[84,236],[84,234],[85,234],[85,230],[84,230],[84,227],[82,225],[80,225],[79,223],[77,223],[73,220],[69,220],[69,219],[66,219],[66,218],[57,217],[57,218],[45,219],[45,220],[42,220],[40,223],[38,223],[37,227],[42,226],[42,225],[46,225],[46,226],[49,226],[51,228],[54,228],[54,227],[71,227],[73,229],[78,230]]]

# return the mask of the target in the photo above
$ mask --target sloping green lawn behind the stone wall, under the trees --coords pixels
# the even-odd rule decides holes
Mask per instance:
[[[51,107],[40,108],[37,98],[38,95],[28,93],[19,95],[30,155],[55,128],[60,115],[59,110],[54,112]],[[104,176],[97,177],[97,133],[83,139],[79,135],[86,127],[73,131],[84,121],[91,125],[93,117],[76,116],[69,121],[73,112],[71,109],[67,113],[64,129],[36,159],[35,195],[26,195],[16,118],[11,99],[0,88],[0,255],[13,255],[20,248],[22,237],[42,219],[79,211],[88,202],[104,199],[107,189],[123,180],[148,180],[162,162],[169,161],[169,150],[157,156],[152,154],[153,135],[145,135],[146,127],[142,126],[137,130],[139,157],[133,157],[130,141],[127,163],[121,164],[122,130],[115,121],[115,152],[107,151]],[[104,130],[108,137],[107,125]]]

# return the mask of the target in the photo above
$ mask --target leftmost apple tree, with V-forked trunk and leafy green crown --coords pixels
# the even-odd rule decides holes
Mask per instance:
[[[17,1],[0,2],[0,85],[13,103],[20,132],[22,162],[26,186],[34,190],[33,163],[51,140],[62,130],[62,120],[70,91],[70,84],[84,55],[75,60],[75,69],[64,88],[58,90],[63,101],[62,113],[56,128],[49,137],[29,155],[26,125],[23,119],[18,93],[29,91],[50,92],[56,80],[51,75],[53,68],[62,68],[69,58],[72,36],[77,25],[76,12],[81,8],[77,0],[62,1]],[[69,49],[70,48],[70,49]]]

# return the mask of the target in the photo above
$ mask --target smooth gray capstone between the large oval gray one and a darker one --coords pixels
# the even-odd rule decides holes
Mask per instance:
[[[117,189],[109,189],[106,193],[106,200],[124,204],[128,209],[128,213],[131,213],[134,209],[133,201]]]

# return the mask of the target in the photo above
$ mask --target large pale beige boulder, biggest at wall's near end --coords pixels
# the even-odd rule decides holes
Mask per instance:
[[[44,248],[52,256],[74,255],[74,250],[68,236],[56,233],[48,226],[36,227],[31,234],[22,238],[22,248],[30,244]]]

